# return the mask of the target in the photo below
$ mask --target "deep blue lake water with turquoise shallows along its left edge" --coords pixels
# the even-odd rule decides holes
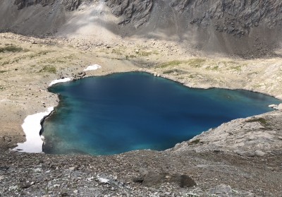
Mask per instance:
[[[44,152],[54,154],[164,150],[281,102],[245,90],[187,88],[148,73],[84,78],[49,90],[61,100],[44,122]]]

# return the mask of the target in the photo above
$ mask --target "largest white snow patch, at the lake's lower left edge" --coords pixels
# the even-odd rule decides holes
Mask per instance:
[[[54,107],[49,107],[47,112],[40,112],[27,116],[22,124],[26,141],[24,143],[18,143],[18,146],[13,150],[25,153],[42,153],[43,141],[39,135],[41,130],[41,122],[53,110]]]

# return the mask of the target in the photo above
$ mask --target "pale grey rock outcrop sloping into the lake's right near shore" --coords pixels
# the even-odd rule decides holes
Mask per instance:
[[[281,118],[282,113],[274,111],[247,119],[235,119],[180,143],[171,151],[233,152],[262,157],[282,148]]]

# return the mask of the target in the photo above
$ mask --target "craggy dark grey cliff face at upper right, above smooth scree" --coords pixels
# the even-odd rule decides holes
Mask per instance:
[[[191,24],[214,25],[217,31],[227,32],[237,37],[248,34],[251,28],[259,25],[265,24],[268,28],[274,28],[282,24],[281,1],[219,0],[212,3],[207,0],[175,0],[171,6],[180,13],[201,10],[200,15],[191,18]],[[206,8],[203,8],[204,6]]]

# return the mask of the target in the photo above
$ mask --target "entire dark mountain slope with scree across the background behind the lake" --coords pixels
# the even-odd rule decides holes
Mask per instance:
[[[73,18],[76,18],[75,20]],[[0,30],[22,34],[149,37],[205,52],[275,55],[282,2],[275,0],[2,0]]]

